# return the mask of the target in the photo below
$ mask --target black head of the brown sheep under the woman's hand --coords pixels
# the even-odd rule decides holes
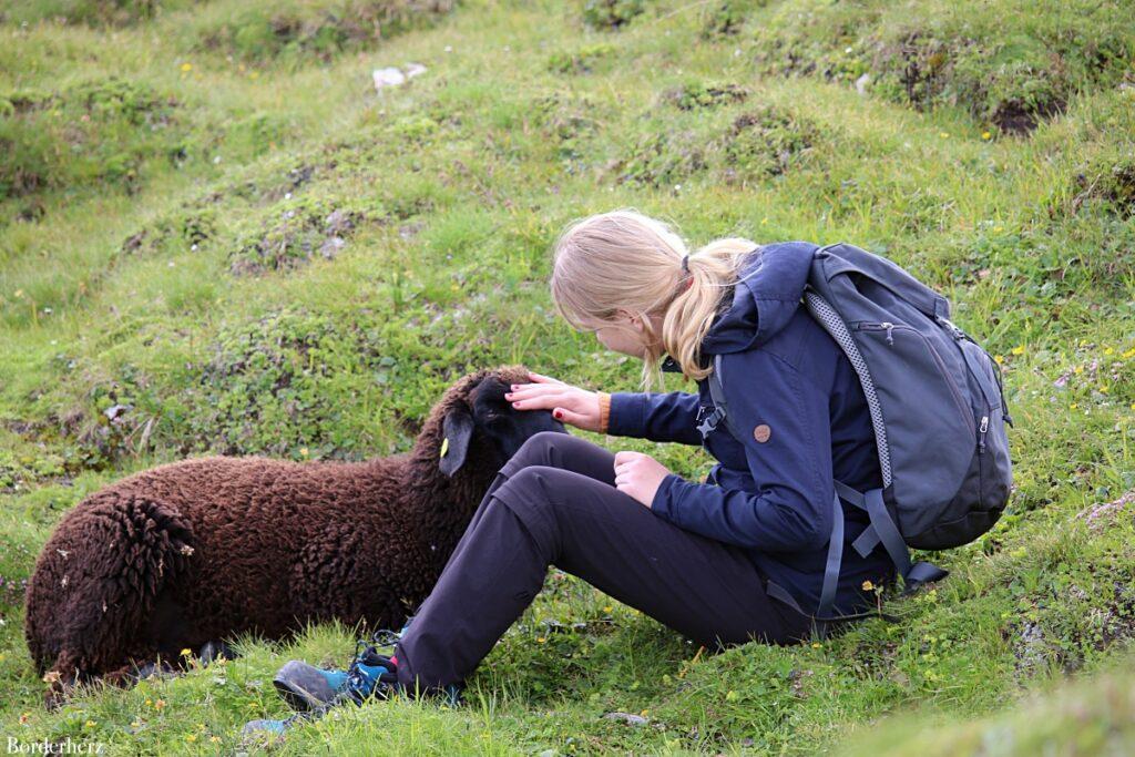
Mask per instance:
[[[477,463],[504,465],[524,441],[540,431],[564,430],[564,424],[546,410],[516,410],[504,398],[512,384],[529,381],[524,368],[508,365],[466,376],[443,399],[439,468],[452,477],[472,456],[470,445],[478,445]],[[488,460],[486,460],[488,457]]]

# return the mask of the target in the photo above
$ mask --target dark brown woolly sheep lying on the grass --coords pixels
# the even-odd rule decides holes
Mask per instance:
[[[279,639],[329,619],[398,628],[497,470],[530,436],[564,431],[549,412],[504,398],[527,380],[515,365],[460,379],[409,453],[199,457],[84,498],[27,586],[25,636],[51,683],[48,704],[77,682],[124,683],[158,655],[177,659],[237,633]]]

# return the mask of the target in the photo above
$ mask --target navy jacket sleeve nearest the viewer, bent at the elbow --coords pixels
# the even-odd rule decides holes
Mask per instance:
[[[818,549],[831,536],[834,496],[829,397],[780,358],[759,350],[742,354],[743,363],[732,364],[726,355],[722,384],[733,426],[746,431],[739,443],[756,493],[671,473],[651,508],[720,541],[766,552]],[[754,437],[762,424],[768,427],[763,443]]]

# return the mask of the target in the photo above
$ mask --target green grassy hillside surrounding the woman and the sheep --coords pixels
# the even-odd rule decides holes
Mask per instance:
[[[232,754],[285,713],[276,667],[343,663],[351,629],[44,712],[22,598],[53,524],[188,455],[405,449],[474,368],[634,389],[546,285],[564,224],[633,205],[695,243],[850,241],[944,292],[1004,369],[1009,511],[883,597],[901,623],[790,648],[698,654],[552,571],[466,706],[344,710],[274,751],[1135,750],[1133,11],[0,0],[0,737]]]

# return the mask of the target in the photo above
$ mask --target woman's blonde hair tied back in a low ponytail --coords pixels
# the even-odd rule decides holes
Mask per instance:
[[[722,238],[689,253],[670,225],[634,209],[588,216],[555,242],[552,300],[580,330],[614,322],[619,310],[638,316],[646,337],[644,388],[662,384],[663,353],[683,376],[699,380],[712,372],[700,364],[701,339],[722,291],[737,283],[742,259],[756,247],[749,239]],[[686,255],[689,272],[682,267]],[[651,314],[663,316],[661,335],[650,323]]]

